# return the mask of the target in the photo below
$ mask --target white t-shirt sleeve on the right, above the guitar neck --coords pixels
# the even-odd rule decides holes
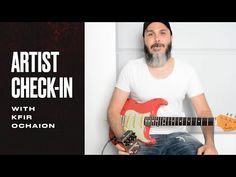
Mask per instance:
[[[200,95],[202,93],[204,93],[204,90],[203,90],[202,84],[200,82],[200,79],[199,79],[196,71],[192,70],[192,72],[190,74],[190,80],[189,80],[187,94],[191,98],[191,97]]]

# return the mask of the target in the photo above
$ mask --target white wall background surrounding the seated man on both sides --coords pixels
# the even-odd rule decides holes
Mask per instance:
[[[191,64],[213,115],[236,113],[236,23],[171,23],[175,59]],[[100,154],[108,140],[107,106],[124,64],[143,55],[142,23],[85,24],[85,154]],[[187,105],[186,99],[185,104]],[[187,115],[192,109],[186,106]],[[219,154],[236,154],[236,134],[216,127]],[[190,132],[203,142],[198,128]],[[108,144],[104,154],[115,154]]]

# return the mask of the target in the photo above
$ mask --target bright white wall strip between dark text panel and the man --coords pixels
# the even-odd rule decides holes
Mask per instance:
[[[115,23],[85,23],[85,154],[100,154],[108,140],[106,110],[116,80],[115,42]]]

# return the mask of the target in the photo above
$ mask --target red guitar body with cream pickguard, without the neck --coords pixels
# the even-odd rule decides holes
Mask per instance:
[[[149,135],[151,126],[144,125],[144,118],[157,116],[160,106],[167,105],[167,101],[162,98],[152,99],[145,103],[137,103],[135,100],[128,99],[121,110],[122,125],[125,131],[132,130],[137,138],[145,144],[155,144],[156,140]],[[110,139],[114,133],[110,129]],[[115,141],[112,141],[116,144]]]

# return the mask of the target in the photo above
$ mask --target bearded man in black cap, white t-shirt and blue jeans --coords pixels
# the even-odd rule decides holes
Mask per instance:
[[[191,99],[198,117],[212,117],[203,89],[194,69],[171,56],[172,30],[168,22],[145,22],[143,25],[145,57],[129,61],[122,69],[109,108],[108,121],[116,137],[124,134],[120,112],[130,97],[144,103],[163,98],[168,105],[158,109],[158,116],[184,116],[185,95]],[[203,126],[204,145],[187,133],[184,126],[151,127],[154,145],[141,144],[138,154],[194,155],[217,154],[214,128]],[[117,144],[119,154],[128,154]]]

